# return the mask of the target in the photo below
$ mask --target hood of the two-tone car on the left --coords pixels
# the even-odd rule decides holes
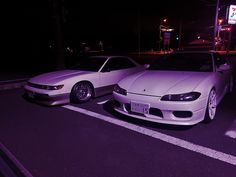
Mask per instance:
[[[78,71],[78,70],[62,70],[62,71],[54,71],[50,73],[41,74],[35,76],[29,80],[29,82],[36,84],[56,84],[63,80],[77,77],[84,74],[92,73],[91,71]]]

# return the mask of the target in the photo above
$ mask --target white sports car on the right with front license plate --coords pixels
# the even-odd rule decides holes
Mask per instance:
[[[219,54],[174,52],[118,82],[114,109],[147,121],[194,125],[213,120],[217,105],[232,90],[231,66]]]

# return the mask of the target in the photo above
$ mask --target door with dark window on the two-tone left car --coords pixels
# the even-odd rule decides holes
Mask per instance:
[[[125,76],[138,71],[139,66],[132,62],[128,57],[112,57],[101,70],[101,87],[110,87],[118,83]]]

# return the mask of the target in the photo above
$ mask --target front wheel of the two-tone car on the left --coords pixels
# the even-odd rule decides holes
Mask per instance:
[[[93,87],[89,82],[79,82],[72,88],[70,100],[73,103],[84,103],[91,99]]]

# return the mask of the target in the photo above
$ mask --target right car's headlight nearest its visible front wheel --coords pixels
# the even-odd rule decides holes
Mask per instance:
[[[161,98],[161,101],[194,101],[200,97],[199,92],[189,92],[182,94],[165,95]]]

